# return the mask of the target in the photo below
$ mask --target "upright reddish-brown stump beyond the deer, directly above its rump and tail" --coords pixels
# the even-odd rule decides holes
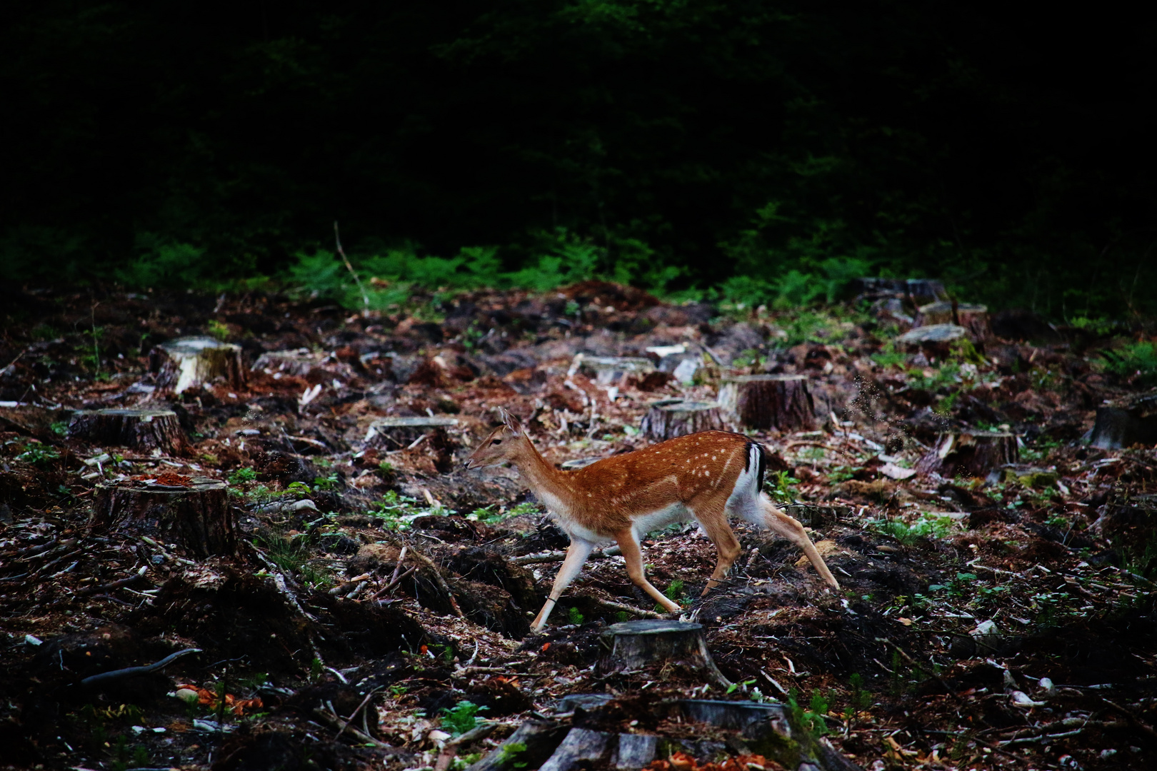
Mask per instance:
[[[723,380],[720,405],[749,429],[811,431],[815,402],[804,375],[740,375]]]

